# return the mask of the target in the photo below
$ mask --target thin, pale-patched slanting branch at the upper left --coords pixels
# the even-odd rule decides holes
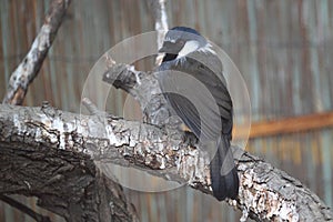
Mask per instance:
[[[53,0],[44,23],[36,37],[28,54],[10,77],[3,103],[21,104],[29,84],[38,74],[56,38],[57,31],[71,0]]]

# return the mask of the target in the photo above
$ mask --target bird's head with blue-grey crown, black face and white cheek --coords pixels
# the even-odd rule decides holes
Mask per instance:
[[[163,62],[165,62],[184,58],[191,52],[204,49],[206,44],[206,40],[194,29],[174,27],[167,32],[159,52],[165,53],[163,59]]]

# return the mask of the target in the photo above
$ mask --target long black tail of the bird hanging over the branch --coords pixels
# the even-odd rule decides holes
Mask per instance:
[[[230,141],[226,137],[221,137],[210,167],[214,196],[219,201],[223,201],[225,198],[235,199],[239,193],[240,181],[230,150]]]

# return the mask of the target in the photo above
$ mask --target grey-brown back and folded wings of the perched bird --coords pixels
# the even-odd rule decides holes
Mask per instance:
[[[221,65],[221,70],[218,70],[220,73],[205,64],[191,58],[182,65],[169,63],[164,64],[167,68],[162,64],[161,70],[168,71],[161,74],[159,81],[162,91],[167,92],[167,100],[191,131],[198,138],[214,140],[221,135],[221,131],[231,135],[232,102],[221,79],[222,64],[218,64]]]

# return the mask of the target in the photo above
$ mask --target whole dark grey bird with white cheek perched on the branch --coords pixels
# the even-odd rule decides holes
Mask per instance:
[[[236,199],[239,176],[231,152],[233,105],[223,65],[212,44],[196,30],[168,30],[160,53],[158,82],[167,103],[211,153],[213,196]]]

